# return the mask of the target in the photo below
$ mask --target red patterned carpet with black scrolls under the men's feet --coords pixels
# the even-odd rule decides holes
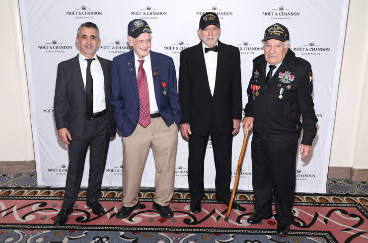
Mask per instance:
[[[53,221],[61,208],[64,190],[55,188],[0,188],[0,242],[147,242],[147,243],[264,243],[264,242],[368,242],[368,195],[296,194],[295,222],[287,237],[276,234],[274,218],[249,225],[253,194],[240,193],[244,207],[232,210],[206,193],[202,212],[192,214],[187,191],[176,191],[170,207],[174,218],[163,219],[151,209],[154,192],[140,192],[141,207],[126,219],[115,217],[121,191],[104,189],[100,198],[106,213],[92,214],[80,191],[65,226]]]

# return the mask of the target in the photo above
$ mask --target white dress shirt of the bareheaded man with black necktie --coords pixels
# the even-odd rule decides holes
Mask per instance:
[[[79,53],[79,65],[82,72],[82,78],[85,90],[85,76],[87,75],[87,59]],[[105,101],[105,82],[101,63],[98,61],[96,55],[95,60],[91,62],[91,75],[93,78],[93,113],[101,112],[106,109]]]

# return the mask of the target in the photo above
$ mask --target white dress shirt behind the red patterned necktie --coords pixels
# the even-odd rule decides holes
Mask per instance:
[[[139,59],[136,52],[134,52],[134,61],[136,64],[136,77],[138,77],[138,67],[139,67],[140,60],[141,59]],[[150,110],[150,113],[153,114],[153,113],[158,112],[158,107],[156,103],[156,95],[154,94],[153,77],[152,77],[152,71],[151,71],[151,58],[149,56],[149,53],[142,60],[145,60],[143,62],[143,69],[145,69],[146,76],[147,76],[148,94],[149,94],[149,110]]]

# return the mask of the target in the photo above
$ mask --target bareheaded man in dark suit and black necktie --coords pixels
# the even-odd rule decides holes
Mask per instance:
[[[65,224],[73,212],[88,146],[86,204],[95,215],[105,213],[98,198],[110,136],[116,134],[110,104],[112,62],[96,55],[101,43],[98,27],[91,22],[82,23],[75,41],[79,54],[60,62],[56,77],[54,117],[60,139],[69,145],[69,167],[64,202],[55,226]]]

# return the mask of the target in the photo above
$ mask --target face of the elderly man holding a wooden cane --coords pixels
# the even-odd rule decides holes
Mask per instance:
[[[270,39],[265,44],[265,58],[271,65],[277,65],[284,60],[288,48],[285,48],[284,42]]]

